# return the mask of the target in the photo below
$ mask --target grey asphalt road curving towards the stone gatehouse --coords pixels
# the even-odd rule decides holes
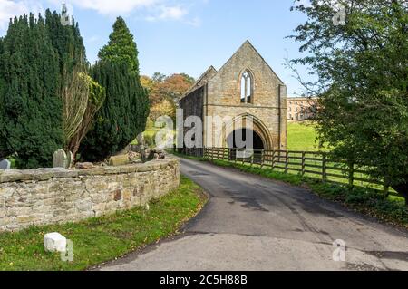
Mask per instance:
[[[180,236],[100,270],[408,270],[406,230],[379,224],[304,188],[180,161],[182,174],[209,193],[207,207]],[[342,240],[339,248],[336,240]]]

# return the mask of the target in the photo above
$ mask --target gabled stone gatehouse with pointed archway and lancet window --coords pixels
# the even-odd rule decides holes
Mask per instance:
[[[286,85],[248,41],[219,71],[210,66],[180,102],[184,120],[189,116],[203,120],[207,148],[236,147],[233,136],[240,130],[245,138],[250,119],[254,140],[249,149],[287,149],[286,107]],[[221,132],[206,123],[206,118],[216,116],[231,118]]]

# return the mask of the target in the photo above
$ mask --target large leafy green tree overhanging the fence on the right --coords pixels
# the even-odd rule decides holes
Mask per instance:
[[[345,25],[335,25],[338,5]],[[317,82],[320,138],[338,159],[371,168],[408,192],[408,3],[404,0],[313,0],[297,5],[307,15],[292,36]]]

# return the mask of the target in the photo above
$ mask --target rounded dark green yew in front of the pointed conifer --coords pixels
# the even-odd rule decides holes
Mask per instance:
[[[124,149],[144,130],[149,103],[128,63],[101,61],[91,76],[106,88],[106,100],[80,151],[83,159],[96,161]]]

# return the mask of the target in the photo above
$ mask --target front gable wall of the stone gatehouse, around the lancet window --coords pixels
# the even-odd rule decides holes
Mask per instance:
[[[240,99],[241,75],[245,71],[253,77],[253,100],[248,104]],[[252,115],[267,128],[263,135],[269,139],[266,149],[287,148],[286,86],[250,43],[241,46],[208,86],[207,115]]]

